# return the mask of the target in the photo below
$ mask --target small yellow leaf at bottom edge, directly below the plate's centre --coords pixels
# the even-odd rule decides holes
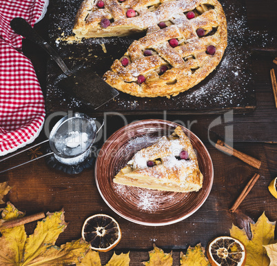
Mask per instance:
[[[155,244],[153,246],[154,249],[149,252],[150,260],[143,262],[143,264],[146,266],[172,266],[172,252],[165,253],[163,249],[159,249]]]

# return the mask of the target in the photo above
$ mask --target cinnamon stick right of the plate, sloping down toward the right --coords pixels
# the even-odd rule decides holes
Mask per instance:
[[[252,156],[244,154],[243,152],[239,152],[238,150],[234,149],[233,147],[227,145],[224,141],[220,141],[218,139],[218,141],[216,143],[216,148],[218,148],[218,150],[226,152],[227,154],[233,155],[236,158],[239,158],[241,161],[244,161],[245,163],[247,163],[257,169],[260,169],[260,165],[262,164],[261,161],[259,161],[256,158],[253,158]]]

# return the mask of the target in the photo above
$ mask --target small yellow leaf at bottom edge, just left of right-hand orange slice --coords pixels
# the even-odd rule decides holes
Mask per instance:
[[[190,247],[187,249],[186,254],[181,252],[180,263],[183,266],[209,266],[209,260],[205,256],[205,248],[201,246],[201,243],[197,244],[195,247]]]

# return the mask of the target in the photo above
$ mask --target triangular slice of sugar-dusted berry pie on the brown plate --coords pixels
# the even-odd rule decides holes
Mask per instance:
[[[114,183],[171,192],[197,192],[203,185],[196,154],[181,127],[137,152]]]

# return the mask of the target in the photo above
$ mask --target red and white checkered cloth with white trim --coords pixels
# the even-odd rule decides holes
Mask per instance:
[[[10,21],[23,17],[33,26],[47,5],[46,0],[0,0],[0,156],[32,143],[43,127],[41,87]]]

